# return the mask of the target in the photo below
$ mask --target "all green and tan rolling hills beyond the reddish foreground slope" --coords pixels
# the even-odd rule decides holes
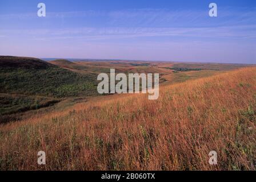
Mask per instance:
[[[58,107],[63,109],[63,105],[75,104],[76,98],[84,100],[87,96],[97,96],[97,75],[109,73],[110,68],[115,68],[115,73],[125,73],[126,75],[129,73],[159,73],[161,84],[173,84],[222,72],[216,71],[217,69],[226,71],[243,66],[237,64],[112,61],[72,62],[58,59],[46,62],[32,57],[0,56],[1,117],[3,115],[5,117],[18,115],[20,112],[28,110],[36,110],[31,112],[37,113],[37,109],[54,105],[59,101],[62,101],[63,104],[58,104]],[[238,85],[249,86],[243,82]],[[55,109],[55,106],[41,110],[53,108]],[[5,119],[5,121],[7,120]]]

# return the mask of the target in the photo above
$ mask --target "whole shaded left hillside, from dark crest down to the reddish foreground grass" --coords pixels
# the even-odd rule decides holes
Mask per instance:
[[[10,114],[52,106],[64,98],[97,96],[96,78],[40,59],[0,56],[0,123],[17,119]]]

